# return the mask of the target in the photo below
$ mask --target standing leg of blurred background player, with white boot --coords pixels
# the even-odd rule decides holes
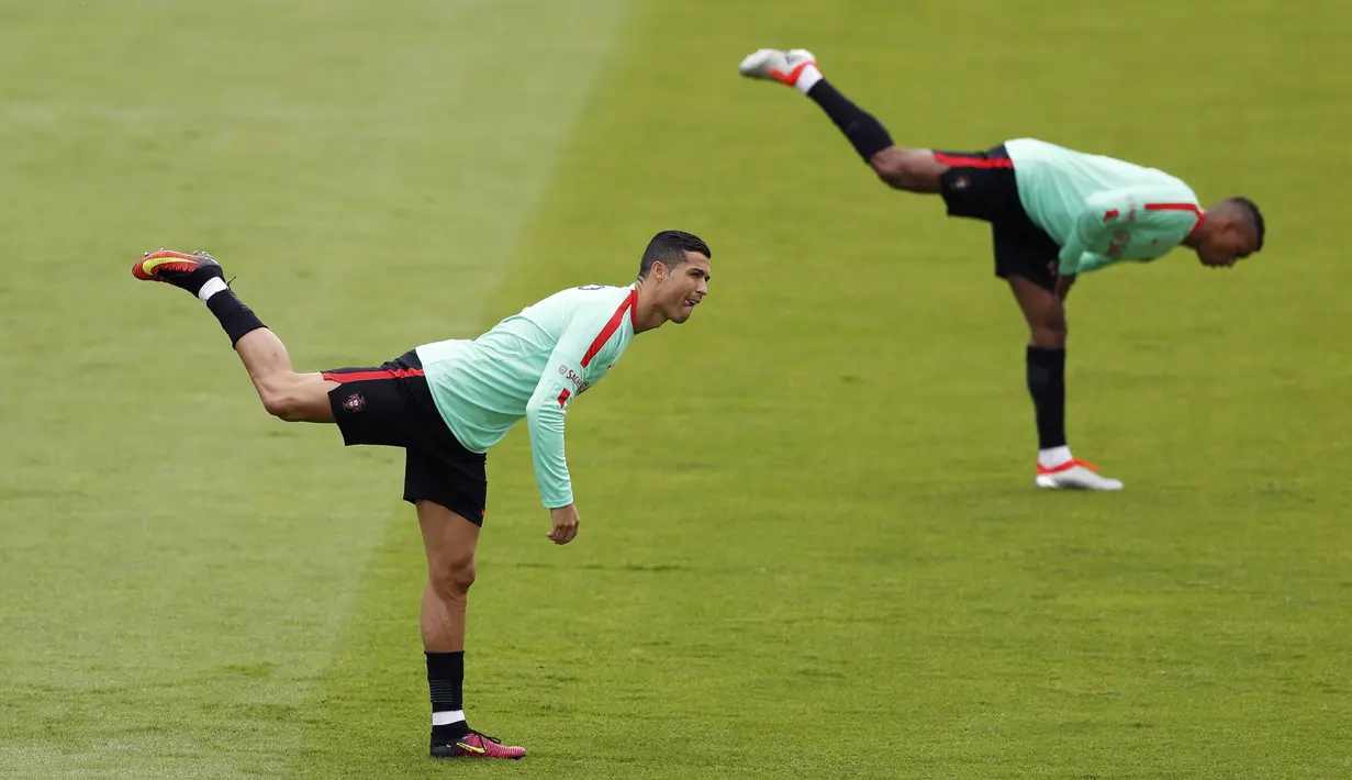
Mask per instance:
[[[1028,391],[1037,414],[1037,480],[1040,488],[1119,491],[1122,483],[1098,474],[1098,469],[1071,456],[1065,439],[1065,307],[1063,299],[1021,276],[1010,288],[1028,320]]]

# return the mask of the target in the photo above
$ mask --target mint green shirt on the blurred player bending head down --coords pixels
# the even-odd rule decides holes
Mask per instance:
[[[1033,138],[1007,141],[1005,150],[1023,211],[1061,246],[1061,274],[1155,260],[1202,218],[1192,189],[1163,170]]]

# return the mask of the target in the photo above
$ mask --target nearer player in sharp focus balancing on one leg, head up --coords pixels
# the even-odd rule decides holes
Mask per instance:
[[[565,289],[473,341],[425,343],[373,368],[297,373],[287,347],[226,285],[206,253],[161,250],[132,266],[201,299],[220,320],[269,414],[337,423],[345,445],[406,450],[404,500],[427,553],[420,629],[431,692],[433,757],[521,758],[469,727],[462,706],[465,603],[484,518],[485,453],[526,418],[541,497],[556,545],[577,535],[564,460],[564,412],[614,368],[637,335],[683,323],[708,293],[710,250],[698,237],[658,233],[629,287]]]

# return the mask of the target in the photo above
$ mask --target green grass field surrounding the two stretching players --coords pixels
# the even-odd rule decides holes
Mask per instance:
[[[1334,0],[0,5],[0,776],[1352,776],[1352,50]],[[987,235],[872,181],[758,46],[900,143],[1036,135],[1244,193],[1268,249],[1071,299],[1032,489]],[[583,534],[489,458],[470,722],[426,758],[402,457],[269,419],[208,247],[297,366],[714,247],[575,404]]]

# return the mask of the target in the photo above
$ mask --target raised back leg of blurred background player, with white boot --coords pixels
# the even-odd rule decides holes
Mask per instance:
[[[822,76],[811,51],[761,49],[742,59],[738,72],[748,78],[779,81],[811,97],[845,134],[864,162],[894,189],[940,192],[940,176],[949,166],[936,160],[929,149],[907,149],[892,143],[882,122],[854,105]]]

